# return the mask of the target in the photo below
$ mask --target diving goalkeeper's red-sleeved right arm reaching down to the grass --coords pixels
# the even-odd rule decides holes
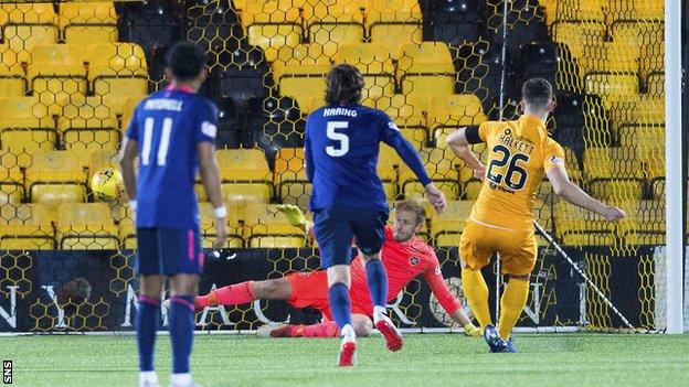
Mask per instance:
[[[432,265],[428,269],[426,269],[426,272],[424,272],[424,278],[431,288],[431,292],[435,295],[441,303],[441,307],[443,307],[447,314],[449,314],[456,323],[464,327],[464,333],[467,336],[480,336],[480,330],[471,323],[471,320],[462,308],[462,302],[452,293],[447,283],[445,283],[445,279],[441,272],[441,266],[437,257],[435,257],[435,254],[433,254],[431,261]]]

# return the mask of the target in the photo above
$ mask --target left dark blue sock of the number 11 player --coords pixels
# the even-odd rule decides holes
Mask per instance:
[[[139,347],[139,370],[153,370],[156,331],[160,319],[160,300],[139,294],[139,311],[136,318],[137,345]]]

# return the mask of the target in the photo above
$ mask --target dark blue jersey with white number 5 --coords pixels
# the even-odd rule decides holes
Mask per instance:
[[[381,141],[402,136],[381,110],[357,104],[327,106],[306,121],[305,162],[314,184],[311,209],[332,206],[388,211],[378,176]]]

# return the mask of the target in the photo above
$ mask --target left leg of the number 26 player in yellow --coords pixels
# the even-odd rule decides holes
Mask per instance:
[[[481,246],[486,234],[484,228],[469,222],[459,240],[462,287],[481,330],[492,325],[488,307],[488,284],[481,273],[481,269],[490,262],[492,251]]]

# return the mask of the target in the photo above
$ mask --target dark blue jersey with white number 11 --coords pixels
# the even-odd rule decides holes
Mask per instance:
[[[139,228],[199,226],[197,144],[215,142],[218,109],[187,88],[151,94],[136,108],[127,138],[138,143]]]

